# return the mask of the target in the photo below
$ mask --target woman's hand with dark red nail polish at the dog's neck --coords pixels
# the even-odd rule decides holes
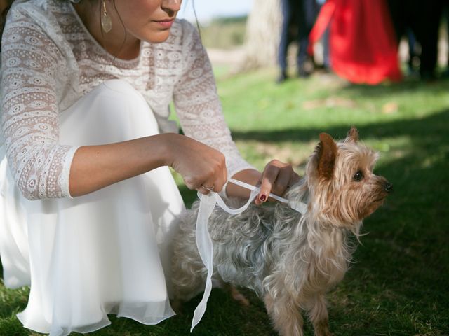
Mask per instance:
[[[282,196],[299,179],[300,176],[293,171],[292,165],[279,160],[268,162],[262,172],[260,193],[255,199],[255,204],[267,201],[269,193]]]

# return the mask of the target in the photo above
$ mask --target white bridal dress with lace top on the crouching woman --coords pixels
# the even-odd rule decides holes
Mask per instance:
[[[146,324],[173,315],[170,240],[184,205],[167,167],[72,198],[79,146],[173,130],[236,150],[206,52],[192,25],[137,59],[107,54],[68,1],[16,0],[1,45],[0,255],[9,288],[31,285],[18,318],[51,336],[91,332],[107,314]]]

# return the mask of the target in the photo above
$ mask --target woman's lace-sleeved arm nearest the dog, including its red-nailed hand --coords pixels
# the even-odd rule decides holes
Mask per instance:
[[[259,184],[261,192],[256,204],[267,200],[270,192],[282,195],[298,176],[291,165],[272,160],[260,173],[248,164],[232,141],[217,95],[212,66],[194,27],[183,22],[185,54],[188,62],[185,73],[175,86],[174,100],[177,115],[185,134],[221,151],[226,156],[229,176],[246,183]],[[228,183],[229,197],[248,197],[249,191]]]

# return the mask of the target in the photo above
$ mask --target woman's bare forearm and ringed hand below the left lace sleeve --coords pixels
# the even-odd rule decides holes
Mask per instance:
[[[227,180],[225,156],[199,141],[166,133],[116,144],[80,147],[72,161],[69,188],[80,196],[168,165],[181,174],[187,188],[208,193]]]

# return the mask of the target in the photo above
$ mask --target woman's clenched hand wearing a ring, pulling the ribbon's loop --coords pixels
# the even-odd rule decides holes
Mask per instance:
[[[180,134],[169,139],[166,164],[180,173],[189,189],[208,194],[220,192],[227,181],[225,155],[214,148]]]

